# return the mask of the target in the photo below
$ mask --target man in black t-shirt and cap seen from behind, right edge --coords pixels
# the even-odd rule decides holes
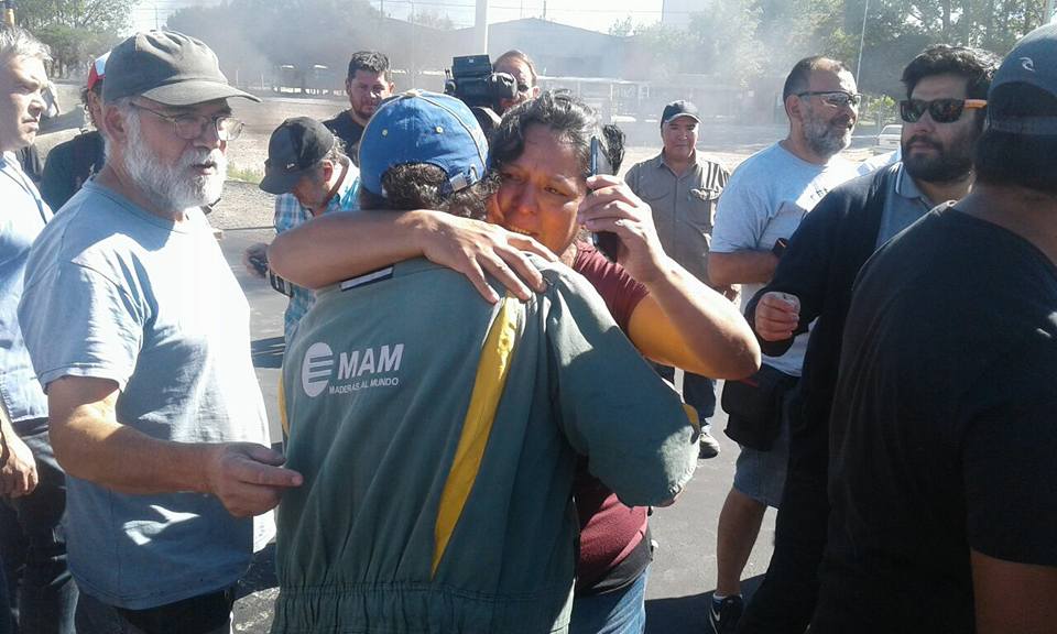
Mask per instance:
[[[813,634],[1057,623],[1057,24],[988,108],[973,192],[856,286]]]

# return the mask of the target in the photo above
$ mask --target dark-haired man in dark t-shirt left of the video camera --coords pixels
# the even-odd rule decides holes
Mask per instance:
[[[345,143],[346,153],[359,165],[358,152],[363,128],[379,103],[393,95],[396,85],[392,81],[389,57],[377,51],[360,51],[349,59],[349,75],[345,90],[349,95],[349,109],[334,119],[323,122],[330,132]]]

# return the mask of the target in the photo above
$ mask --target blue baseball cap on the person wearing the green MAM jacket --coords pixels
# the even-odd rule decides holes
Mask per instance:
[[[484,177],[488,141],[473,112],[455,97],[408,90],[383,101],[360,139],[360,186],[384,196],[382,176],[395,165],[444,170],[453,192]]]

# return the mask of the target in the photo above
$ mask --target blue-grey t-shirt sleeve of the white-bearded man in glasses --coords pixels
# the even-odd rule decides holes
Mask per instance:
[[[70,319],[76,315],[76,319]],[[19,305],[19,320],[41,384],[63,376],[110,379],[123,390],[135,369],[144,308],[113,281],[59,263]]]

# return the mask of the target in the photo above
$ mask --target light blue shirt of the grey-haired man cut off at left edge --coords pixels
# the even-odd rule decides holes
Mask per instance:
[[[10,153],[0,155],[0,398],[21,430],[19,423],[47,417],[47,397],[22,340],[18,307],[30,247],[52,211]]]

